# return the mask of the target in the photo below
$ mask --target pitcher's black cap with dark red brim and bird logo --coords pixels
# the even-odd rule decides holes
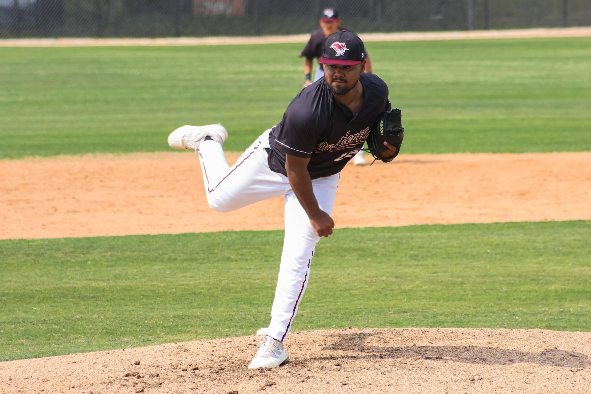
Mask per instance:
[[[353,66],[365,60],[363,41],[355,33],[341,30],[329,35],[324,43],[324,53],[318,59],[322,64]]]

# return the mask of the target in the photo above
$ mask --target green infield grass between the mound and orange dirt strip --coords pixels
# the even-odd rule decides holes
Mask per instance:
[[[339,229],[294,330],[590,331],[591,222]],[[253,334],[283,233],[0,241],[0,360]]]

